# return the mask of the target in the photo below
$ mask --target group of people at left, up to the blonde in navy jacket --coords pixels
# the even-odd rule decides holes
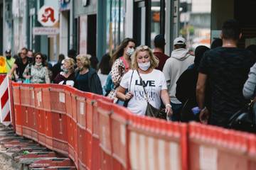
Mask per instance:
[[[75,56],[74,50],[70,50],[68,54],[70,57],[66,58],[60,54],[57,64],[51,67],[46,62],[46,55],[40,52],[33,55],[31,50],[24,47],[14,60],[11,57],[11,51],[6,50],[4,60],[10,70],[3,73],[8,73],[9,79],[18,82],[31,84],[50,84],[53,82],[54,84],[74,86],[81,91],[102,94],[100,78],[90,65],[91,56]]]

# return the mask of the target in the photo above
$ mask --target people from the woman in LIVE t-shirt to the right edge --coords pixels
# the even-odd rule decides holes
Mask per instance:
[[[230,119],[256,96],[256,45],[240,49],[241,36],[238,21],[228,20],[211,49],[201,45],[193,55],[186,40],[178,37],[168,57],[164,37],[157,35],[154,53],[144,45],[136,48],[129,71],[120,74],[116,97],[137,115],[146,115],[150,103],[165,108],[173,121],[232,128]],[[159,67],[163,61],[164,67]]]

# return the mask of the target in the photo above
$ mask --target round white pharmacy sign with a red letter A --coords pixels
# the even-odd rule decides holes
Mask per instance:
[[[58,20],[58,11],[53,6],[42,6],[38,11],[38,22],[42,26],[54,26]]]

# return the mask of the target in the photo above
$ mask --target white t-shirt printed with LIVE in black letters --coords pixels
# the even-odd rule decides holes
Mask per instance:
[[[132,76],[132,72],[134,72],[133,76]],[[144,81],[144,84],[146,85],[145,89],[146,89],[147,96],[149,98],[149,103],[155,108],[160,108],[161,90],[167,89],[164,73],[157,69],[153,69],[153,71],[149,74],[140,74],[140,75],[142,77],[142,80]],[[131,83],[131,86],[129,86],[131,77],[132,77],[132,83]],[[129,111],[132,111],[132,113],[135,113],[137,115],[145,115],[146,104],[147,104],[146,95],[144,93],[143,86],[140,83],[140,79],[137,71],[129,70],[129,72],[124,74],[124,77],[122,78],[120,86],[122,86],[124,89],[128,89],[128,91],[130,91],[134,95],[129,101],[127,106]]]

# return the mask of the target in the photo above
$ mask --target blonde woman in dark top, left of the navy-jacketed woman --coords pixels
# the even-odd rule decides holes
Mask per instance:
[[[55,84],[66,84],[74,86],[75,84],[75,60],[66,58],[63,60],[62,72],[57,74],[53,82]]]

